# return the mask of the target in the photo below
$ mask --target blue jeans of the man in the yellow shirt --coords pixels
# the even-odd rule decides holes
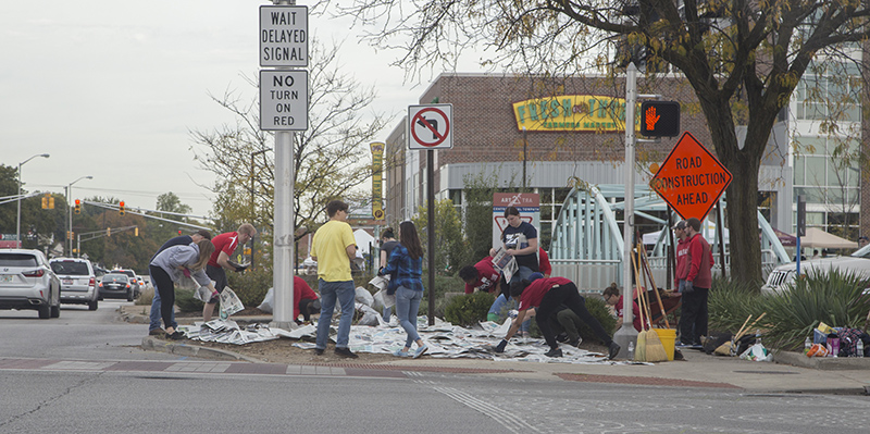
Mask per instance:
[[[350,322],[353,321],[353,297],[357,289],[353,281],[326,282],[318,281],[320,289],[320,319],[318,320],[318,349],[326,349],[330,340],[330,323],[332,323],[333,312],[335,312],[335,300],[341,307],[341,319],[338,320],[338,338],[335,340],[337,348],[347,348],[350,340]]]

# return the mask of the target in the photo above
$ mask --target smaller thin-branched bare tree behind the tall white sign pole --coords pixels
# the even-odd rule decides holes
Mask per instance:
[[[294,227],[308,227],[334,198],[363,200],[357,189],[372,175],[368,144],[386,126],[387,117],[369,112],[375,98],[339,64],[338,46],[312,40],[309,66],[309,128],[294,141]],[[256,79],[246,78],[256,87]],[[191,149],[201,165],[214,172],[217,194],[215,226],[235,227],[243,221],[271,227],[274,198],[273,134],[260,129],[257,99],[227,91],[212,97],[236,117],[234,125],[194,131]],[[297,232],[297,238],[304,232]]]

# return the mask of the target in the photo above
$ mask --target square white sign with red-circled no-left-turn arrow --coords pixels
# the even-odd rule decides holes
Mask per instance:
[[[408,149],[451,149],[453,104],[408,106]]]

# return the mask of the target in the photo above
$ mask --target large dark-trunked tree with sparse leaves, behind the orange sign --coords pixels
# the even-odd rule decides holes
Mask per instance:
[[[625,64],[617,53],[643,52],[648,75],[673,66],[735,175],[728,218],[741,224],[730,228],[731,275],[757,282],[758,174],[771,129],[817,54],[867,38],[868,8],[850,0],[353,0],[343,11],[380,25],[370,40],[402,48],[396,63],[410,69],[455,65],[469,47],[488,53],[484,65],[529,74],[614,72]]]

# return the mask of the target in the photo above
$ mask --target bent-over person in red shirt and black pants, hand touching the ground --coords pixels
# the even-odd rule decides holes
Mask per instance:
[[[545,356],[561,357],[562,350],[556,342],[556,334],[550,325],[550,317],[558,313],[560,305],[564,305],[576,313],[608,347],[609,359],[617,357],[619,354],[619,344],[613,342],[613,338],[605,331],[601,323],[586,309],[586,300],[580,295],[577,286],[573,282],[564,277],[538,278],[531,283],[529,281],[514,282],[510,285],[510,295],[520,299],[519,313],[513,320],[510,330],[508,330],[508,334],[496,347],[496,352],[505,351],[508,339],[520,328],[520,324],[525,320],[529,309],[535,308],[535,321],[537,321],[537,326],[550,347],[550,350]]]

